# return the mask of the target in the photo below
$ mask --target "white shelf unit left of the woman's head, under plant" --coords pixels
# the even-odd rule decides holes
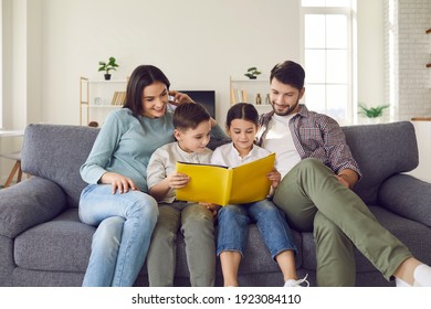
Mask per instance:
[[[102,125],[111,110],[120,108],[127,79],[88,79],[80,77],[80,126]]]

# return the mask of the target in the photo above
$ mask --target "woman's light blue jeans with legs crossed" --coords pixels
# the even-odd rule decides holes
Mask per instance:
[[[113,194],[111,184],[81,193],[80,219],[97,226],[83,286],[133,286],[147,256],[157,202],[140,191]]]

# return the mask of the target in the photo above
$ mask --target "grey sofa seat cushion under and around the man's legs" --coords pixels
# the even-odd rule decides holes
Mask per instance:
[[[431,238],[431,230],[418,222],[399,216],[380,206],[369,206],[377,220],[404,243],[412,254],[424,263],[431,260],[431,246],[425,243]],[[316,270],[316,246],[313,233],[303,233],[303,266]],[[428,257],[428,258],[427,258]],[[372,264],[355,248],[356,271],[375,271]]]

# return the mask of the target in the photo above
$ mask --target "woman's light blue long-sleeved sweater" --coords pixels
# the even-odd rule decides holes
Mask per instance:
[[[211,132],[216,137],[224,136],[219,126]],[[140,191],[148,192],[149,158],[157,148],[171,141],[175,141],[171,113],[167,111],[160,118],[137,118],[128,108],[114,110],[81,167],[81,177],[95,184],[105,172],[115,172],[130,178]]]

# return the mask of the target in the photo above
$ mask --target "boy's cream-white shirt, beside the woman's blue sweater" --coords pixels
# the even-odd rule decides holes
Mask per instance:
[[[157,183],[162,181],[168,174],[176,171],[177,161],[189,163],[209,164],[211,161],[212,150],[206,148],[202,152],[186,152],[178,142],[169,142],[155,152],[153,152],[147,167],[147,183],[148,189],[151,189]],[[176,198],[176,190],[170,189],[165,199],[157,202],[172,203]]]

